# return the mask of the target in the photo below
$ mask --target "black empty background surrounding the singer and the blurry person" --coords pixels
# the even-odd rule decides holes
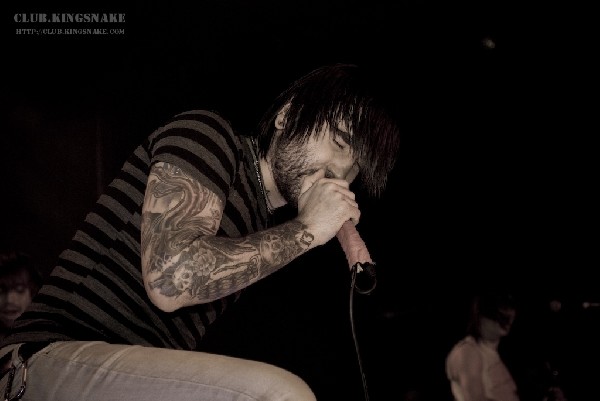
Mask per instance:
[[[571,401],[598,399],[600,309],[583,307],[600,301],[591,10],[491,0],[183,4],[3,3],[2,248],[49,271],[165,119],[216,109],[247,132],[292,79],[358,63],[388,80],[405,109],[388,191],[378,201],[357,194],[378,277],[352,304],[371,399],[449,400],[444,358],[463,334],[468,299],[498,284],[522,302],[507,341],[519,382],[532,387],[548,360]],[[122,12],[126,22],[110,27],[125,34],[17,35],[40,25],[14,14],[39,12]],[[321,400],[364,399],[349,280],[337,243],[317,249],[249,289],[206,349],[289,368]]]

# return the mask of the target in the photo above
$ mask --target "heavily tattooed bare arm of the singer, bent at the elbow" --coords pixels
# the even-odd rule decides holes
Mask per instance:
[[[216,237],[223,207],[217,195],[178,167],[152,167],[142,208],[142,274],[160,309],[232,294],[314,246],[297,220],[242,238]]]

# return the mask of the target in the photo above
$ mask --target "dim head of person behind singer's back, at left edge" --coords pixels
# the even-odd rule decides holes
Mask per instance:
[[[0,254],[0,330],[10,328],[31,303],[42,284],[32,258],[20,252]]]

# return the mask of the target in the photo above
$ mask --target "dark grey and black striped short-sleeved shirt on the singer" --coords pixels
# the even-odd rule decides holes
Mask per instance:
[[[150,167],[171,163],[221,198],[217,235],[240,237],[267,225],[248,138],[217,114],[175,116],[134,151],[76,232],[70,247],[0,347],[19,342],[99,340],[194,350],[207,326],[239,297],[164,312],[144,289],[141,210]]]

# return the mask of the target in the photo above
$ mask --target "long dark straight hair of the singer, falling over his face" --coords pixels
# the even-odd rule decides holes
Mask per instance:
[[[360,165],[359,182],[369,195],[378,197],[396,160],[400,130],[393,102],[383,95],[375,78],[356,65],[333,64],[298,79],[263,115],[257,136],[259,155],[267,154],[277,113],[286,106],[282,135],[288,141],[306,141],[315,128],[344,121],[352,132],[349,145]]]

